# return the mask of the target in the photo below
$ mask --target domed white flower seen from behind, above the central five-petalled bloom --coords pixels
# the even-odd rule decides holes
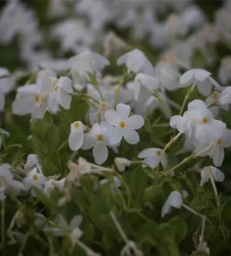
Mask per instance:
[[[123,64],[127,66],[128,70],[131,70],[135,74],[144,73],[150,76],[154,75],[154,69],[151,62],[147,59],[144,53],[138,49],[125,53],[117,60],[118,66]]]

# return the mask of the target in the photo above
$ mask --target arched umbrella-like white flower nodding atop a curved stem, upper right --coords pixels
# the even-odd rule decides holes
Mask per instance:
[[[203,69],[192,69],[184,73],[180,79],[178,87],[187,87],[194,82],[197,83],[197,89],[200,94],[209,96],[213,86],[219,87],[219,84],[211,77],[211,73]]]

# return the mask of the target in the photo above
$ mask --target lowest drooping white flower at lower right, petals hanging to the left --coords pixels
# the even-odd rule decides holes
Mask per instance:
[[[180,209],[183,204],[183,199],[181,194],[178,191],[172,191],[169,195],[168,199],[166,200],[162,210],[161,210],[161,217],[164,218],[166,214],[171,212],[171,208]]]

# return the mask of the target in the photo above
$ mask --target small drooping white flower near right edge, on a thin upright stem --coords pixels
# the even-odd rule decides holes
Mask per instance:
[[[224,174],[218,168],[214,166],[205,166],[201,172],[200,186],[203,186],[205,182],[209,181],[211,175],[215,181],[222,182],[224,180]]]

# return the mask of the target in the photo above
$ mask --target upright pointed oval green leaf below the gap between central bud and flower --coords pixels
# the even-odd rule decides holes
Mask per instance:
[[[145,188],[147,187],[147,175],[144,173],[142,168],[138,167],[134,170],[131,182],[135,197],[140,200],[144,194]]]

